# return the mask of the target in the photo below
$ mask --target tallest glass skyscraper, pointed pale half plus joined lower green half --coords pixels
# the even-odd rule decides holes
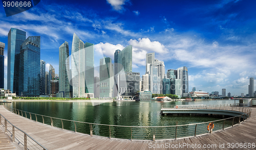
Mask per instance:
[[[84,44],[74,33],[71,61],[73,97],[93,97],[94,44]]]

